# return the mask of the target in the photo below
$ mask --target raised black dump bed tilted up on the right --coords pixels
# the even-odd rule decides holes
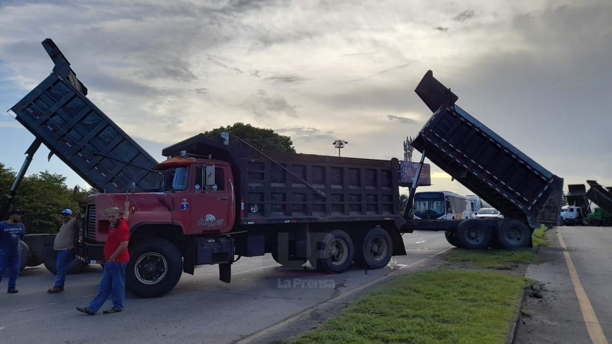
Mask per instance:
[[[415,90],[435,113],[412,146],[505,217],[533,228],[559,222],[563,179],[466,111],[428,71]]]

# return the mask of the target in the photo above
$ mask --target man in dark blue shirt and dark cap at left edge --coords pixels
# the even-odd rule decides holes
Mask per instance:
[[[9,272],[9,293],[17,293],[17,276],[21,261],[21,237],[26,226],[21,223],[23,212],[17,209],[9,212],[9,219],[0,222],[0,282],[4,271]]]

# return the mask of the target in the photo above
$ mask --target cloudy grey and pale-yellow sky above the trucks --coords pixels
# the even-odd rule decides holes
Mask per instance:
[[[241,121],[298,152],[403,157],[430,111],[428,69],[458,105],[565,185],[612,186],[612,2],[0,0],[0,109],[51,72],[51,38],[89,99],[151,155]],[[34,139],[0,114],[0,162]],[[47,149],[30,171],[84,182]],[[415,153],[415,159],[420,154]],[[471,193],[432,166],[423,190]],[[565,188],[567,190],[567,187]]]

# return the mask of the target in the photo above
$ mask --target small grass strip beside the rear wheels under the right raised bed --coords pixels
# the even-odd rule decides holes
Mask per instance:
[[[512,264],[535,264],[539,259],[533,249],[466,250],[453,249],[446,255],[450,263],[467,263],[473,267],[498,269]]]

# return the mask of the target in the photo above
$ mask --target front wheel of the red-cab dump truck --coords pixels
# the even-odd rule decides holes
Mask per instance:
[[[125,287],[139,297],[159,297],[171,291],[181,279],[183,261],[174,244],[154,238],[130,249]]]

